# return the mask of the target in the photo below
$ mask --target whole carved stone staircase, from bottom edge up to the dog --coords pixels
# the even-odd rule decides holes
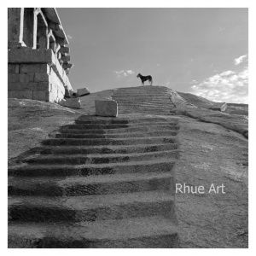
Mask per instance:
[[[119,113],[124,90],[136,92],[115,91]],[[169,114],[167,103],[140,106],[138,115],[80,116],[9,167],[9,247],[178,247],[178,119],[143,114]]]

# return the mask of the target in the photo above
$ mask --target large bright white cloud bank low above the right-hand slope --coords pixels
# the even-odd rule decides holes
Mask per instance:
[[[213,102],[247,103],[248,67],[244,67],[239,72],[227,70],[215,74],[201,83],[194,82],[190,88],[191,93]]]

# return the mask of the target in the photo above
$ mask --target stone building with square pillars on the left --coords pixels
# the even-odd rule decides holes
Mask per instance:
[[[67,36],[54,8],[8,9],[9,98],[60,102],[72,86]]]

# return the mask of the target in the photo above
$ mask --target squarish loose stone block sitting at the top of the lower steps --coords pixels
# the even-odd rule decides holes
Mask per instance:
[[[118,116],[118,104],[111,100],[96,100],[95,101],[96,115],[99,116]]]

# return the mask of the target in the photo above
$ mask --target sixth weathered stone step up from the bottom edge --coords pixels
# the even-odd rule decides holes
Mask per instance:
[[[146,153],[177,149],[178,143],[166,144],[137,144],[128,146],[44,146],[35,148],[32,153],[38,154],[130,154],[130,153]]]

